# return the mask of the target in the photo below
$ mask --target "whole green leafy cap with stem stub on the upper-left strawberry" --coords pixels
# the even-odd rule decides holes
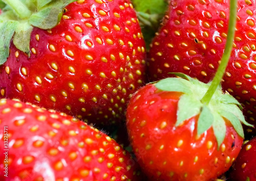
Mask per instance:
[[[0,65],[9,56],[10,42],[30,56],[30,35],[33,27],[54,28],[62,10],[76,0],[0,0]]]

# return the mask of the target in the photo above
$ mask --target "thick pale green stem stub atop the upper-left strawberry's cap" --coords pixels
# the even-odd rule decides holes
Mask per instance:
[[[20,19],[29,18],[32,12],[29,8],[19,0],[2,0],[5,4],[9,5]]]

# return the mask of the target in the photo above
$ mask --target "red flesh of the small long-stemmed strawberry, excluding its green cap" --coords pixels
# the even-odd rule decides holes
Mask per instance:
[[[210,180],[236,159],[243,139],[226,120],[218,149],[212,127],[197,136],[198,115],[175,126],[181,93],[140,89],[127,108],[127,130],[135,155],[150,180]]]

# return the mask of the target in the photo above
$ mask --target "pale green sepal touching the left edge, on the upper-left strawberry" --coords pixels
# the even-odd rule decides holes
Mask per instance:
[[[6,21],[0,24],[0,65],[4,64],[9,57],[10,42],[17,25],[17,21]]]

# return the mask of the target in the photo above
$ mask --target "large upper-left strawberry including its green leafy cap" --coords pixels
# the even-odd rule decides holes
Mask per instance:
[[[145,68],[145,43],[130,1],[5,2],[0,97],[97,126],[124,117],[129,96],[144,82]],[[15,11],[17,4],[22,12]],[[16,17],[8,10],[17,14],[15,21],[6,20]],[[7,24],[12,28],[8,35]]]

